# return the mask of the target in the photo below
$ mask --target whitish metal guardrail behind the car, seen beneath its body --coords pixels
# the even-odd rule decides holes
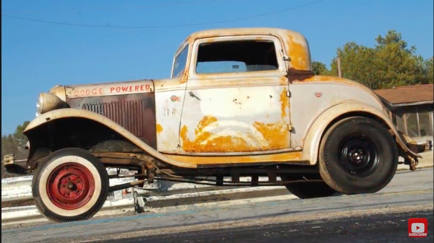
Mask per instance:
[[[122,172],[122,171],[121,171]],[[127,172],[127,171],[125,171]],[[109,174],[116,173],[116,169],[109,169]],[[20,201],[33,199],[31,183],[33,176],[22,176],[1,179],[1,202],[16,204]],[[240,181],[250,181],[250,177],[240,178]],[[260,181],[268,178],[260,177]],[[110,179],[110,186],[124,184],[132,178]],[[196,185],[191,183],[177,183],[155,180],[153,184],[146,184],[143,188],[130,188],[114,191],[107,197],[98,215],[115,215],[124,212],[133,212],[135,204],[144,208],[146,202],[162,200],[177,200],[182,198],[201,197],[218,194],[230,194],[257,190],[282,189],[284,187],[214,187]],[[32,202],[30,202],[32,203]],[[34,205],[5,207],[1,209],[1,224],[26,223],[45,220]]]

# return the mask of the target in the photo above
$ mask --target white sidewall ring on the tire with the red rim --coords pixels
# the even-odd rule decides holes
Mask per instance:
[[[91,199],[89,200],[89,202],[87,202],[81,208],[78,208],[75,210],[65,210],[65,209],[61,209],[61,208],[55,206],[51,202],[51,200],[48,196],[48,192],[47,192],[47,181],[48,181],[48,178],[49,178],[49,175],[51,174],[51,172],[54,169],[56,169],[58,166],[65,164],[65,163],[70,163],[70,162],[78,163],[78,164],[85,166],[92,174],[94,182],[95,182],[95,190],[94,190],[94,193],[93,193]],[[101,194],[101,186],[102,186],[101,185],[101,177],[100,177],[100,174],[98,173],[97,168],[91,162],[89,162],[88,160],[86,160],[82,157],[70,155],[70,156],[64,156],[64,157],[60,157],[58,159],[55,159],[44,169],[44,171],[42,172],[41,179],[39,181],[39,194],[40,194],[42,202],[53,213],[60,215],[60,216],[78,216],[78,215],[84,214],[85,212],[87,212],[90,208],[92,208],[95,205],[95,203],[97,202],[97,200]]]

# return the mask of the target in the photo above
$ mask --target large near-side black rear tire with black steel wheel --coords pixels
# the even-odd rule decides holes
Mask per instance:
[[[367,117],[338,121],[320,144],[321,177],[343,194],[383,189],[392,180],[397,166],[395,139],[383,124]]]

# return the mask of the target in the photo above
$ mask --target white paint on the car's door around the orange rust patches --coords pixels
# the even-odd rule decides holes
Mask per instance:
[[[199,83],[196,81],[188,81],[187,92],[193,92],[200,100],[196,97],[186,96],[185,108],[182,111],[180,125],[181,128],[183,126],[188,128],[187,138],[190,141],[194,141],[196,137],[200,136],[200,134],[197,134],[196,129],[202,127],[203,132],[212,134],[212,138],[226,136],[243,138],[250,145],[250,150],[262,150],[263,147],[268,145],[268,141],[256,130],[254,127],[255,122],[265,124],[280,123],[282,129],[286,129],[286,124],[289,124],[289,106],[285,106],[287,109],[286,115],[282,117],[280,101],[281,93],[285,92],[287,85],[281,85],[279,78],[269,81],[272,85],[246,85],[226,88],[216,88],[211,84],[206,85],[206,81],[200,82],[204,87],[197,86],[196,84],[199,85]],[[258,82],[261,81],[258,80]],[[192,84],[190,85],[190,83]],[[206,116],[214,117],[217,121],[204,126],[204,124],[201,124],[201,120]],[[212,138],[208,138],[207,141],[212,140]],[[289,133],[286,139],[289,141]],[[181,145],[182,142],[180,139]],[[206,141],[203,141],[203,143],[206,143]],[[187,152],[195,151],[187,150]]]

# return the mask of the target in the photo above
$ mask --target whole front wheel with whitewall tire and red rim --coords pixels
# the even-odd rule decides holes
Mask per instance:
[[[67,148],[51,153],[33,176],[38,211],[53,222],[86,220],[104,204],[109,180],[104,165],[90,152]]]

